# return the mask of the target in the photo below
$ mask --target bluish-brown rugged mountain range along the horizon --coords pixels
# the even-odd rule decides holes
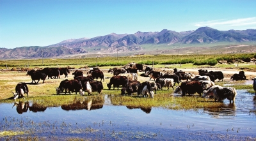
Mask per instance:
[[[176,32],[163,29],[160,32],[140,32],[134,34],[107,34],[94,38],[69,39],[46,47],[0,48],[0,59],[31,59],[40,57],[81,56],[81,54],[113,54],[120,52],[147,52],[152,49],[176,49],[180,45],[244,44],[256,41],[256,29],[219,31],[211,27],[200,27],[195,31]],[[215,43],[215,44],[214,44]],[[256,45],[256,44],[254,44]],[[162,48],[161,48],[162,47]],[[167,49],[168,50],[168,49]],[[163,51],[164,52],[164,51]],[[168,51],[167,51],[168,52]]]

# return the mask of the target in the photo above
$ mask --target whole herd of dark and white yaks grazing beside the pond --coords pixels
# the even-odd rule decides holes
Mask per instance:
[[[149,80],[145,82],[138,81],[138,71],[141,72],[140,77],[149,77]],[[145,73],[143,73],[144,71]],[[69,73],[68,68],[44,68],[42,70],[30,70],[27,75],[31,76],[31,83],[38,83],[40,79],[44,83],[47,76],[48,79],[60,78],[60,75],[64,74],[66,78]],[[119,89],[120,85],[122,85],[122,95],[137,93],[138,96],[142,95],[143,97],[154,98],[154,94],[157,91],[163,90],[164,87],[167,90],[172,87],[174,90],[176,84],[177,87],[174,93],[181,93],[182,96],[198,93],[204,98],[213,97],[215,101],[223,101],[227,98],[230,103],[234,103],[237,94],[234,87],[221,87],[220,85],[214,84],[216,80],[223,82],[224,75],[221,71],[200,69],[198,70],[198,75],[194,75],[174,68],[173,73],[170,74],[154,71],[154,68],[143,64],[131,63],[125,65],[123,68],[111,68],[108,70],[108,73],[113,74],[113,77],[110,78],[107,84],[108,89],[111,89],[112,85],[113,89]],[[83,71],[80,70],[74,71],[72,75],[74,75],[73,80],[65,79],[60,82],[59,87],[56,87],[57,94],[64,93],[64,91],[65,94],[70,94],[70,92],[77,94],[79,92],[81,96],[84,95],[84,92],[87,92],[88,95],[92,94],[92,92],[102,94],[102,90],[104,89],[102,85],[104,73],[99,68],[90,68],[86,77],[84,77]],[[100,81],[98,81],[99,78]],[[239,73],[232,75],[230,80],[246,80],[244,71],[239,71]],[[253,78],[253,89],[256,94],[256,78]],[[17,84],[15,93],[13,93],[14,99],[24,96],[25,93],[27,96],[29,95],[29,89],[26,83]]]

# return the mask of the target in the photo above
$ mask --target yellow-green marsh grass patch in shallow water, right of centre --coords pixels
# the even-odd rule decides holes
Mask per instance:
[[[155,94],[154,98],[137,96],[112,96],[113,105],[125,105],[128,107],[151,108],[163,107],[172,110],[198,110],[200,108],[218,107],[221,103],[213,99],[195,96],[180,96],[173,94]]]

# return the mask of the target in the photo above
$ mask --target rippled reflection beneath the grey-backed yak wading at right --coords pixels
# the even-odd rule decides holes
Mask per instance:
[[[220,103],[218,107],[207,107],[204,108],[205,112],[208,112],[214,118],[219,118],[223,115],[225,116],[236,116],[236,105]]]

